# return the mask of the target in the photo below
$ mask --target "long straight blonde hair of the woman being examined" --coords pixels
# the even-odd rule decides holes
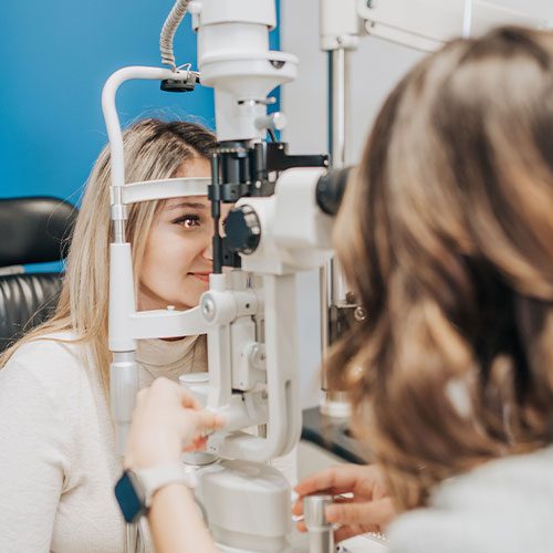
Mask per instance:
[[[194,123],[147,118],[124,134],[125,180],[137,182],[173,177],[192,157],[209,158],[216,137]],[[90,347],[104,392],[109,383],[111,353],[107,347],[107,302],[112,241],[109,220],[111,163],[108,145],[100,154],[86,184],[86,192],[75,223],[54,316],[6,349],[0,368],[23,344],[62,331],[72,331],[72,342]],[[133,249],[135,293],[144,250],[160,200],[133,204],[126,221],[126,238]],[[54,337],[55,340],[55,337]]]

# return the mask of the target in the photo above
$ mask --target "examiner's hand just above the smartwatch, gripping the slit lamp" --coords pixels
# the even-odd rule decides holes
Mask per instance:
[[[222,415],[204,410],[182,386],[157,378],[136,397],[123,465],[143,468],[178,461],[182,451],[206,447],[204,431],[223,425]]]

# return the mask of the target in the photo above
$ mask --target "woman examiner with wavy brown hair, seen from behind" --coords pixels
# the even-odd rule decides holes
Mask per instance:
[[[553,34],[502,28],[418,64],[376,119],[336,247],[368,317],[328,366],[376,465],[300,482],[294,512],[352,492],[326,513],[337,540],[387,526],[393,553],[550,552]],[[126,466],[174,460],[195,419],[163,421],[189,406],[173,383],[144,390]],[[148,458],[161,426],[171,447]],[[158,492],[159,553],[213,551],[171,518],[192,505],[180,484]]]

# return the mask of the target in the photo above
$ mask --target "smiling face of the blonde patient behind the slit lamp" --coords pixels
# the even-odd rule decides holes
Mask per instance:
[[[175,177],[210,177],[210,164],[192,158]],[[221,206],[223,221],[231,206]],[[138,310],[188,310],[209,289],[212,272],[211,202],[206,196],[171,198],[154,219],[146,242],[138,283]]]

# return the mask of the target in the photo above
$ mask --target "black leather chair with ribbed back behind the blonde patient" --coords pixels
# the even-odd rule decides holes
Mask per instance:
[[[61,273],[21,265],[62,260],[76,213],[58,198],[0,199],[0,352],[53,314]]]

